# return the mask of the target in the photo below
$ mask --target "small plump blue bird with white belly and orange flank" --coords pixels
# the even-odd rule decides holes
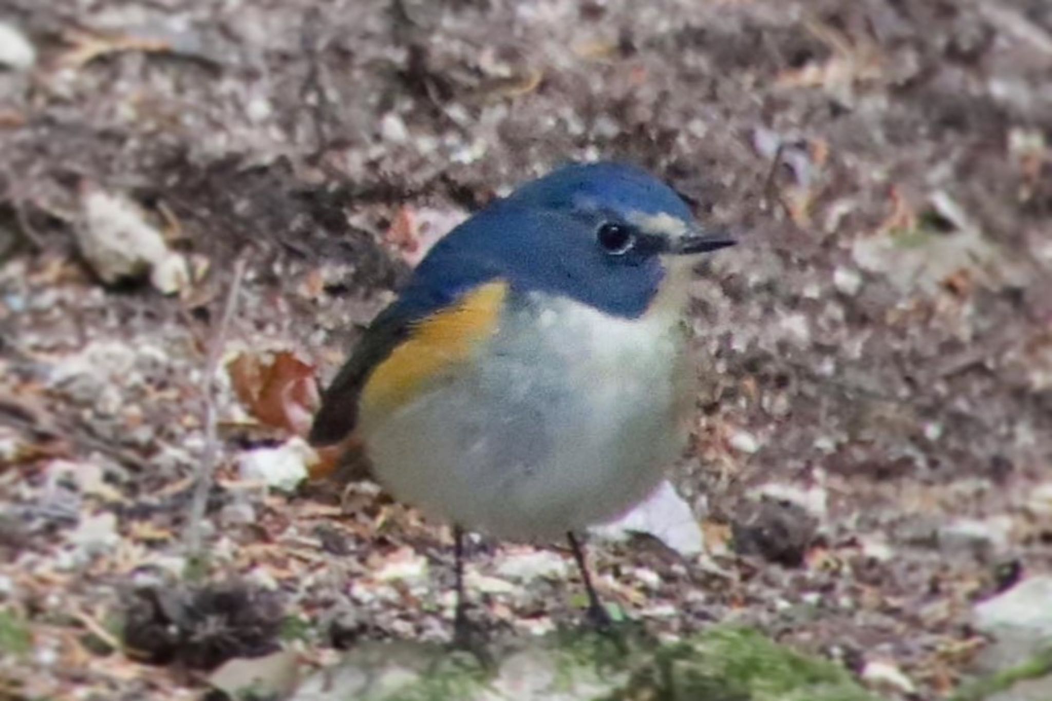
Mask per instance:
[[[569,163],[439,240],[322,393],[308,439],[363,446],[397,500],[453,532],[454,639],[470,635],[465,534],[566,538],[643,501],[695,402],[685,311],[699,256],[730,246],[628,163]]]

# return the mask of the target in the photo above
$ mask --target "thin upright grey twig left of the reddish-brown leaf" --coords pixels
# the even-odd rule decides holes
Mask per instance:
[[[226,295],[226,303],[223,306],[223,316],[216,327],[216,335],[211,339],[208,348],[208,359],[205,363],[204,387],[204,453],[201,456],[200,472],[197,476],[197,484],[194,488],[194,499],[190,501],[189,520],[186,524],[185,539],[186,549],[191,557],[197,557],[201,552],[201,522],[204,521],[205,508],[208,504],[208,492],[216,476],[216,463],[219,460],[219,438],[218,421],[216,419],[216,373],[219,372],[219,361],[223,357],[223,347],[226,344],[226,332],[230,326],[230,319],[238,306],[238,294],[241,292],[241,282],[245,276],[247,256],[240,256],[234,264],[234,279],[230,281],[230,288]]]

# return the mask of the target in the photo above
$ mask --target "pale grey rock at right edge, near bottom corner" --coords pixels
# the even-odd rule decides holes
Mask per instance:
[[[975,627],[994,638],[980,664],[988,669],[1017,664],[1052,644],[1052,575],[1030,577],[974,608]]]

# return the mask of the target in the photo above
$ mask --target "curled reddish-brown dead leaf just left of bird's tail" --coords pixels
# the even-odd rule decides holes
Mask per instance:
[[[234,392],[261,423],[305,436],[321,398],[315,367],[283,350],[265,360],[242,354],[226,366]]]

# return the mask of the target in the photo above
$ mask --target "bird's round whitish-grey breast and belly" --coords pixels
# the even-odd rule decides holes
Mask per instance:
[[[396,498],[502,538],[557,538],[620,516],[677,456],[693,395],[674,307],[627,320],[532,301],[478,362],[370,427]]]

